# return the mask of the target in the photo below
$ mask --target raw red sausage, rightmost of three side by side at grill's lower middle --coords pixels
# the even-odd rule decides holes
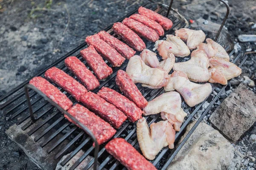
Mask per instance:
[[[143,111],[140,110],[134,102],[131,102],[122,94],[119,94],[110,88],[103,87],[98,92],[98,95],[125,113],[131,122],[135,122],[141,118]]]

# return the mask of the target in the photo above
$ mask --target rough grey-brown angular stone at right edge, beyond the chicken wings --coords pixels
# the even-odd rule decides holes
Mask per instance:
[[[241,83],[212,113],[209,122],[236,142],[256,121],[256,94]]]

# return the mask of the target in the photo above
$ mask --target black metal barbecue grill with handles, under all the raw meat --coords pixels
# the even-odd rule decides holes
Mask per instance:
[[[224,26],[225,20],[227,19],[228,13],[229,13],[229,7],[227,3],[225,3],[223,0],[220,0],[222,3],[224,3],[227,6],[227,14],[224,18],[223,23],[221,24],[221,28],[218,31],[218,34],[215,38],[215,41],[218,39],[218,36],[221,32],[222,27]],[[172,2],[168,8],[166,9],[165,6],[162,6],[162,8],[157,11],[159,14],[162,14],[163,16],[168,17],[170,20],[173,21],[173,27],[169,31],[165,31],[164,36],[160,37],[160,40],[162,40],[166,34],[174,34],[175,29],[180,29],[186,26],[186,23],[178,20],[174,16],[169,16],[169,11],[172,6]],[[156,10],[154,5],[150,3],[146,3],[143,5],[145,8],[149,8],[151,10]],[[130,14],[128,14],[125,17],[129,17],[130,15],[137,12],[137,9],[135,11],[132,11]],[[117,22],[122,22],[122,20],[125,18],[122,17]],[[111,35],[117,37],[113,30],[111,29],[113,24],[105,28],[104,30],[110,33]],[[189,27],[190,28],[190,27]],[[212,38],[212,37],[211,37]],[[147,49],[152,50],[154,48],[154,42],[149,42],[145,39],[143,39]],[[38,74],[35,74],[33,77],[36,76],[42,76],[44,77],[45,71],[47,69],[55,66],[60,68],[61,70],[65,71],[70,76],[74,77],[76,80],[78,80],[72,73],[67,69],[67,67],[64,65],[64,59],[66,59],[69,56],[74,56],[83,48],[86,48],[87,44],[84,42],[83,44],[79,45],[51,65],[49,65],[47,68],[45,68],[43,71],[41,71]],[[225,50],[229,50],[229,46],[225,47]],[[235,59],[233,60],[233,63],[236,65],[243,65],[245,60],[247,59],[247,56],[243,56],[242,54],[234,54],[235,50],[232,50],[230,52],[231,55],[235,55]],[[139,54],[139,52],[137,52]],[[76,57],[78,57],[84,64],[88,67],[87,63],[82,59],[80,54],[77,54]],[[158,56],[159,57],[159,56]],[[160,57],[159,57],[160,58]],[[176,58],[176,62],[183,62],[188,60],[190,57],[185,58]],[[239,63],[240,61],[240,63]],[[108,65],[107,61],[105,61]],[[103,86],[112,88],[118,92],[119,89],[115,84],[115,76],[119,69],[125,70],[127,66],[128,61],[126,60],[119,68],[113,68],[113,74],[108,77],[105,80],[100,81],[100,87],[93,90],[94,93],[98,92],[100,88]],[[111,65],[110,65],[111,66]],[[90,69],[90,68],[89,68]],[[170,72],[170,74],[172,71]],[[67,164],[70,159],[73,158],[73,156],[76,155],[81,149],[84,150],[84,154],[73,164],[73,166],[70,168],[70,170],[74,170],[88,155],[93,156],[94,158],[91,160],[87,166],[84,168],[84,170],[88,170],[90,167],[92,167],[94,163],[94,168],[96,169],[96,166],[98,165],[97,169],[101,170],[103,168],[114,170],[114,169],[125,169],[125,167],[122,166],[122,164],[119,163],[119,161],[116,161],[116,159],[113,158],[110,154],[108,154],[105,151],[104,145],[101,146],[98,145],[95,137],[93,134],[88,130],[84,125],[79,123],[73,116],[71,116],[67,111],[64,111],[60,106],[58,106],[55,102],[53,102],[51,99],[49,99],[47,96],[41,93],[38,89],[36,89],[34,86],[29,85],[28,82],[33,77],[30,77],[28,80],[14,88],[12,91],[9,91],[5,96],[2,96],[0,98],[0,109],[3,110],[5,114],[11,114],[13,120],[17,121],[16,127],[21,128],[23,130],[23,134],[26,136],[32,136],[33,134],[35,138],[33,139],[35,143],[40,142],[40,146],[42,148],[47,147],[47,153],[48,156],[54,157],[57,161],[60,160],[60,158],[67,153],[70,153],[70,151],[73,151],[70,153],[69,156],[67,156],[62,162],[61,165],[64,166]],[[57,86],[58,87],[58,86]],[[154,99],[155,97],[159,96],[164,92],[163,88],[160,89],[148,89],[143,88],[140,84],[137,85],[145,99],[148,101]],[[216,87],[221,87],[220,91],[214,91]],[[183,100],[182,107],[186,113],[188,113],[188,116],[186,116],[182,126],[180,127],[180,132],[176,132],[175,135],[175,144],[177,145],[177,142],[179,141],[180,137],[183,135],[184,130],[186,129],[186,126],[189,124],[189,122],[194,118],[195,114],[198,113],[198,111],[202,110],[202,106],[204,107],[204,111],[202,112],[202,115],[195,123],[194,127],[189,131],[189,133],[186,135],[186,137],[183,139],[183,141],[179,145],[175,145],[175,148],[170,150],[168,147],[163,148],[160,153],[156,156],[156,158],[151,161],[154,166],[156,166],[158,169],[165,170],[168,165],[171,163],[171,161],[175,158],[183,144],[187,141],[189,136],[193,133],[195,128],[198,126],[198,124],[203,120],[204,116],[207,114],[207,112],[210,110],[210,108],[214,105],[215,101],[218,99],[218,97],[221,95],[221,93],[225,90],[227,85],[217,85],[212,84],[212,93],[208,96],[207,99],[204,100],[201,104],[196,105],[195,107],[190,108]],[[25,91],[23,90],[25,89]],[[64,94],[66,92],[59,88]],[[121,93],[121,92],[120,92]],[[76,104],[77,102],[75,99],[73,99],[72,96],[67,94],[67,96],[71,99],[71,101]],[[57,109],[56,109],[57,108]],[[62,112],[62,113],[61,113]],[[67,121],[67,119],[64,118],[64,114],[67,114],[76,124],[80,125],[82,130],[74,126],[72,123]],[[157,115],[151,115],[151,116],[145,116],[145,119],[147,120],[148,125],[151,125],[153,122],[158,122],[161,120],[160,114]],[[46,126],[47,125],[47,126]],[[136,135],[136,123],[131,123],[128,120],[123,123],[123,125],[117,130],[117,133],[113,138],[116,137],[122,137],[125,140],[127,140],[130,144],[132,144],[137,150],[140,152],[140,148],[137,142],[137,135]],[[44,139],[44,140],[41,140]],[[14,139],[15,140],[15,139]],[[17,141],[15,141],[17,142]],[[92,143],[95,142],[95,147],[92,146]],[[20,144],[22,145],[22,144]],[[58,150],[58,151],[56,151]],[[34,160],[36,161],[36,160]],[[97,162],[99,162],[97,164]],[[44,166],[41,166],[42,169],[45,169]]]

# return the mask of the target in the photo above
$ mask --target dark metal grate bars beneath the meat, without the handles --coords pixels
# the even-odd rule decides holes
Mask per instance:
[[[145,4],[144,6],[145,6],[145,8],[150,8],[151,10],[155,10],[154,6],[152,6],[151,4]],[[134,14],[136,12],[137,12],[137,10],[131,12],[130,14],[128,14],[125,17],[129,17],[131,14]],[[167,12],[167,10],[164,8],[162,8],[160,11],[158,11],[158,13],[162,14],[163,16],[166,15],[166,12]],[[117,22],[122,21],[125,17],[121,18]],[[166,34],[174,34],[175,29],[183,28],[185,26],[185,23],[177,20],[176,17],[169,17],[169,18],[173,21],[173,27],[171,30],[165,31],[164,36],[160,37],[160,40],[162,40],[166,36]],[[115,36],[111,29],[112,26],[113,26],[113,24],[111,24],[110,26],[105,28],[105,31],[108,31],[111,35]],[[152,50],[152,48],[154,48],[154,42],[148,42],[147,40],[144,40],[144,42],[149,50]],[[60,68],[61,70],[65,71],[70,76],[76,78],[64,65],[64,59],[76,54],[77,51],[81,50],[82,48],[86,48],[86,47],[87,47],[87,44],[84,42],[83,44],[81,44],[77,48],[75,48],[74,50],[70,51],[64,57],[61,57],[56,62],[49,65],[47,68],[45,68],[40,73],[35,74],[33,77],[35,77],[35,76],[43,77],[43,74],[45,71],[47,71],[47,69],[49,69],[53,66],[56,66],[56,67]],[[228,50],[228,49],[229,49],[229,47],[225,48],[225,50]],[[137,54],[139,54],[139,53],[137,52]],[[234,50],[231,51],[229,55],[231,56],[233,54],[234,54]],[[242,54],[237,55],[236,59],[234,59],[233,62],[236,63],[241,56],[242,56]],[[80,54],[77,54],[76,57],[78,57],[88,67],[88,65],[86,64],[84,59],[82,59]],[[189,57],[176,58],[176,62],[183,62],[188,59],[189,59]],[[244,61],[246,59],[247,59],[247,57],[244,57],[244,59],[240,62],[239,67],[241,67],[241,65],[244,63]],[[110,65],[107,61],[106,61],[106,63],[108,65]],[[103,86],[112,88],[116,91],[119,91],[119,89],[117,88],[117,86],[115,84],[114,78],[119,69],[125,70],[127,63],[128,63],[128,61],[126,60],[121,65],[120,68],[113,68],[113,74],[110,77],[108,77],[107,79],[100,81],[100,87],[95,89],[93,92],[96,93]],[[171,71],[171,73],[172,73],[172,71]],[[28,109],[28,106],[26,105],[26,97],[25,97],[25,93],[23,92],[23,87],[33,77],[29,78],[28,80],[23,82],[21,85],[17,86],[15,89],[13,89],[9,93],[7,93],[5,96],[2,96],[0,98],[0,103],[3,103],[2,105],[0,105],[0,109],[2,109],[2,110],[4,109],[5,114],[12,114],[12,119],[17,120],[17,125],[20,125],[24,121],[30,120],[29,109]],[[76,79],[76,80],[78,80],[78,79]],[[205,104],[206,101],[209,102],[209,105],[205,109],[205,111],[202,113],[202,116],[198,119],[195,126],[192,128],[192,130],[189,132],[189,134],[185,137],[185,139],[179,146],[175,147],[175,149],[173,149],[173,150],[170,150],[168,147],[163,148],[163,150],[161,150],[161,152],[156,156],[156,158],[153,161],[151,161],[152,164],[154,164],[158,169],[165,170],[167,168],[167,166],[170,164],[170,162],[174,159],[177,152],[180,150],[180,148],[183,146],[183,144],[189,138],[191,133],[195,130],[197,125],[201,122],[201,120],[207,114],[207,112],[212,107],[214,102],[218,99],[220,94],[227,87],[227,85],[222,86],[221,91],[219,91],[218,93],[216,92],[215,94],[217,94],[217,95],[214,95],[213,91],[217,86],[218,85],[216,85],[216,84],[212,85],[212,94],[210,94],[209,97],[207,99],[205,99],[204,102],[202,102],[201,104],[199,104],[193,108],[190,108],[183,101],[183,103],[182,103],[183,109],[186,113],[188,113],[188,116],[186,116],[185,122],[180,127],[180,132],[177,132],[175,135],[175,143],[176,144],[177,144],[177,141],[180,139],[181,135],[183,134],[186,126],[189,124],[189,122],[192,120],[192,118],[195,116],[195,114],[201,109],[201,107]],[[158,96],[164,92],[163,88],[148,89],[148,88],[143,88],[141,85],[137,85],[137,87],[139,88],[139,90],[141,91],[143,96],[148,101],[154,99],[156,96]],[[61,88],[59,88],[59,89],[62,92],[64,92]],[[66,94],[66,92],[64,92],[64,93]],[[70,96],[69,94],[67,94],[67,96],[72,100],[72,102],[74,104],[77,103],[73,99],[72,96]],[[34,138],[35,142],[38,142],[43,136],[51,133],[52,129],[55,129],[55,132],[49,134],[49,137],[47,139],[45,139],[44,141],[42,141],[40,144],[41,147],[45,147],[46,145],[49,145],[47,153],[51,154],[51,152],[53,150],[55,150],[62,142],[69,139],[70,142],[68,144],[66,144],[62,148],[62,150],[55,155],[55,159],[60,159],[61,156],[64,156],[65,154],[67,154],[67,151],[70,150],[71,147],[75,146],[75,149],[73,150],[73,152],[69,156],[67,156],[67,158],[64,159],[64,161],[61,162],[61,165],[64,165],[70,159],[72,159],[73,156],[75,156],[76,153],[79,152],[79,150],[83,149],[85,151],[85,153],[78,159],[78,161],[75,162],[75,164],[73,164],[73,166],[70,168],[70,170],[74,170],[81,163],[81,161],[84,160],[84,158],[86,156],[93,155],[94,147],[92,147],[92,140],[86,133],[84,133],[84,131],[82,131],[79,127],[73,126],[70,122],[68,122],[67,119],[64,118],[63,114],[60,111],[56,110],[56,108],[54,106],[52,106],[49,102],[44,100],[43,97],[40,96],[39,94],[37,94],[35,91],[29,89],[29,97],[31,99],[30,101],[31,101],[31,105],[33,108],[33,112],[35,113],[36,120],[35,121],[30,120],[28,123],[23,125],[21,127],[21,129],[26,130],[31,125],[35,124],[31,130],[26,132],[29,136],[31,136],[35,132],[38,132],[38,130],[42,130],[44,128],[42,130],[42,132],[39,133],[38,136],[36,136]],[[41,120],[41,119],[44,119],[44,120],[41,121],[40,123],[38,123],[38,120]],[[147,120],[148,125],[150,125],[153,122],[158,122],[161,120],[160,114],[145,116],[145,119]],[[46,125],[46,124],[49,124],[49,126],[44,127],[44,125]],[[69,129],[69,130],[67,130],[67,129]],[[57,141],[55,141],[54,143],[52,143],[51,141],[53,139],[55,139],[55,137],[58,135],[62,135],[61,138],[58,139]],[[123,123],[123,125],[117,130],[117,133],[115,134],[114,138],[116,138],[116,137],[125,138],[125,140],[127,140],[137,150],[139,150],[137,136],[136,136],[136,124],[135,123],[131,123],[128,121]],[[110,169],[110,170],[124,168],[119,163],[119,161],[116,161],[116,159],[114,159],[111,155],[109,155],[105,151],[104,144],[102,144],[100,146],[100,150],[98,153],[98,161],[100,163],[99,167],[98,167],[99,170],[101,170],[102,168],[106,168],[106,169]],[[84,168],[84,170],[88,170],[92,165],[93,165],[93,160],[90,161],[89,164],[87,164],[87,166]]]

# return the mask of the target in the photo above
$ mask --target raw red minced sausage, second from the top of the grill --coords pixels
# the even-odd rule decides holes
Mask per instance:
[[[163,30],[162,26],[159,23],[149,19],[148,17],[145,17],[140,14],[133,14],[129,18],[139,21],[140,23],[143,23],[145,26],[152,28],[154,31],[157,32],[157,34],[159,36],[163,36],[163,34],[164,34],[164,30]]]

